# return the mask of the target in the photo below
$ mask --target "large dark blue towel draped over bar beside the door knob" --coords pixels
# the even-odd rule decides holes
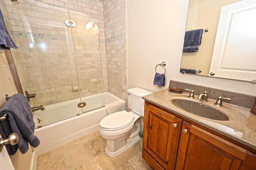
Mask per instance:
[[[0,116],[7,113],[7,118],[0,121],[0,134],[6,139],[11,133],[17,133],[18,146],[6,145],[9,155],[16,153],[17,149],[22,154],[28,151],[28,143],[32,147],[38,147],[39,139],[34,135],[35,123],[27,98],[23,94],[14,94],[0,109]]]

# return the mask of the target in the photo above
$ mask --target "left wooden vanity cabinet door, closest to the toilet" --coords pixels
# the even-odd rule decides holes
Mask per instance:
[[[152,158],[151,161],[156,161],[162,166],[156,168],[151,165],[153,168],[174,168],[181,123],[181,119],[170,113],[146,104],[142,157],[145,159],[147,155]]]

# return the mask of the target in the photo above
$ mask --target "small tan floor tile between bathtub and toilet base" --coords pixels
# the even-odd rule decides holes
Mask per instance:
[[[92,153],[94,155],[98,155],[104,152],[106,147],[106,139],[103,139],[101,136],[92,139],[89,142],[90,148],[92,149]]]

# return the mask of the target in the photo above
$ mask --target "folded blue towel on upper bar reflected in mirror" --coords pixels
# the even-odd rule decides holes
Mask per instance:
[[[183,52],[195,52],[198,51],[199,45],[201,45],[203,29],[196,29],[192,31],[186,31]]]

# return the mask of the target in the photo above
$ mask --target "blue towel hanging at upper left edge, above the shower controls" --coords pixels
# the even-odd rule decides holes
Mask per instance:
[[[0,49],[10,50],[10,48],[18,49],[6,29],[4,17],[0,8]]]

